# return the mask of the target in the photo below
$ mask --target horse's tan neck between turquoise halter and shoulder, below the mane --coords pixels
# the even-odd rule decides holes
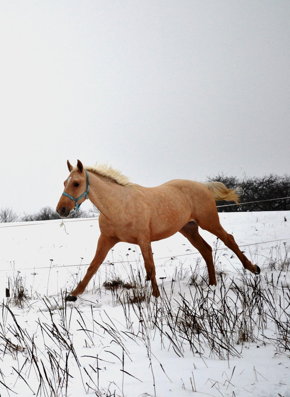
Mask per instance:
[[[122,202],[122,187],[114,181],[90,173],[89,199],[105,216],[111,217]]]

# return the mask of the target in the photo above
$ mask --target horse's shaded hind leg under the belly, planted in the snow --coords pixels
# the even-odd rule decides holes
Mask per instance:
[[[209,275],[209,285],[217,285],[215,268],[213,266],[212,249],[209,244],[198,233],[198,225],[191,221],[182,227],[179,232],[186,237],[190,243],[201,253],[205,260]]]

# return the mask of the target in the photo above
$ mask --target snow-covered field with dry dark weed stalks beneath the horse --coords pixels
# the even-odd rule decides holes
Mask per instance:
[[[119,243],[67,304],[98,221],[1,224],[0,396],[290,397],[290,212],[220,219],[260,276],[200,230],[217,273],[209,288],[177,233],[152,243],[157,300],[139,247]]]

